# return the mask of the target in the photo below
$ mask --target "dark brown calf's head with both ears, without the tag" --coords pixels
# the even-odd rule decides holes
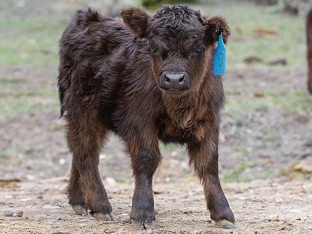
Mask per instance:
[[[218,35],[222,31],[226,43],[231,34],[224,17],[208,19],[187,5],[163,5],[154,16],[131,6],[120,15],[134,35],[149,41],[146,49],[152,56],[156,82],[172,95],[183,95],[209,82],[205,77],[213,70]]]

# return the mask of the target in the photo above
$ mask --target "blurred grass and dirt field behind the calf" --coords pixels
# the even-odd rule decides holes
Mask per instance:
[[[182,3],[181,1],[169,1]],[[159,0],[0,0],[0,178],[67,176],[71,166],[56,87],[58,40],[82,7],[118,15],[126,5],[153,14]],[[307,92],[309,0],[187,1],[224,15],[232,29],[220,131],[223,183],[311,180],[312,95]],[[196,181],[184,147],[160,145],[155,183]],[[118,139],[100,155],[105,180],[132,182]],[[108,177],[108,178],[107,178]]]

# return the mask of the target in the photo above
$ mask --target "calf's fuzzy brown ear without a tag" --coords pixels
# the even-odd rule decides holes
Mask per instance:
[[[134,6],[123,8],[120,12],[120,16],[123,19],[124,24],[137,37],[144,38],[149,35],[148,27],[151,16],[142,8]]]

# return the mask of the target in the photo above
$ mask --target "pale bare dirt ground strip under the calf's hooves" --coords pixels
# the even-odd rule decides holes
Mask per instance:
[[[0,233],[138,233],[129,223],[132,184],[105,183],[116,222],[77,216],[67,203],[63,182],[18,183],[1,189],[0,210],[22,210],[22,217],[0,213]],[[199,183],[155,183],[154,230],[141,233],[312,233],[312,183],[227,183],[224,192],[236,217],[236,229],[215,226]],[[281,199],[280,199],[281,198]],[[46,204],[46,200],[49,200]],[[270,219],[278,215],[278,221]]]

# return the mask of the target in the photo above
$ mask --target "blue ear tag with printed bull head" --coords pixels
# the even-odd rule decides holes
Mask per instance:
[[[215,76],[225,74],[225,65],[227,58],[227,50],[222,39],[222,32],[219,35],[219,42],[214,52],[214,66],[213,71]]]

